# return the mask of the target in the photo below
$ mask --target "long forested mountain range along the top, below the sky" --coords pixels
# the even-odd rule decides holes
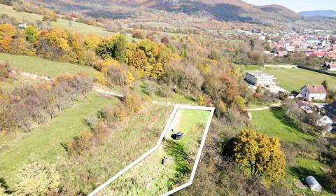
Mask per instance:
[[[254,6],[241,0],[31,0],[52,8],[83,10],[89,16],[104,14],[104,18],[129,18],[139,10],[165,10],[188,15],[207,15],[221,21],[251,22],[265,25],[291,22],[301,18],[293,10],[279,5]],[[80,5],[80,6],[76,6]],[[113,10],[113,11],[112,11]]]

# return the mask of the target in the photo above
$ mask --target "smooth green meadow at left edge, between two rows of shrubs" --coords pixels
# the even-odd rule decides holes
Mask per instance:
[[[29,134],[18,136],[2,136],[1,141],[8,143],[0,148],[0,177],[11,186],[16,179],[18,169],[29,160],[45,160],[55,162],[57,157],[65,157],[66,152],[61,142],[73,138],[89,128],[83,120],[107,104],[113,104],[115,99],[100,97],[90,92],[85,99],[80,99],[75,106],[63,111],[50,123],[41,125]],[[14,137],[14,138],[13,138]]]

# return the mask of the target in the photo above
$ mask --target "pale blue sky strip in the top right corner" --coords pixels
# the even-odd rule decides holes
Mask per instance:
[[[296,12],[310,10],[336,10],[336,0],[243,0],[258,6],[279,4]]]

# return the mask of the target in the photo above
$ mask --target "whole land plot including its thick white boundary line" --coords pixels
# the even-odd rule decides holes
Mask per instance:
[[[175,106],[158,144],[90,195],[170,195],[190,186],[213,114],[214,108]]]

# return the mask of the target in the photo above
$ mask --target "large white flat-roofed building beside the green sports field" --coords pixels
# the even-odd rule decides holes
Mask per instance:
[[[248,71],[245,76],[245,80],[248,81],[248,83],[261,87],[274,86],[275,79],[274,76],[262,71]]]

